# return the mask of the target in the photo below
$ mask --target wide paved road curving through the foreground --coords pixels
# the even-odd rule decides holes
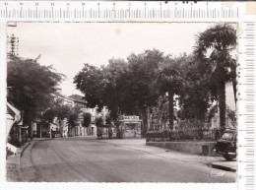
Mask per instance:
[[[33,182],[234,182],[235,173],[207,160],[141,140],[84,138],[34,141],[21,158],[25,181]]]

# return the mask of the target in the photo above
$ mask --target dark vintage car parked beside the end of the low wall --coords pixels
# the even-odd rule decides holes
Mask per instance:
[[[216,153],[223,155],[225,160],[236,158],[237,132],[233,129],[224,130],[224,134],[216,144]]]

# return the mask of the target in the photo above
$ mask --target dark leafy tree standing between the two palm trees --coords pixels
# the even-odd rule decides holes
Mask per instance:
[[[200,73],[199,62],[193,55],[183,56],[180,63],[184,86],[178,97],[181,119],[198,119],[204,121],[210,107],[209,75]]]

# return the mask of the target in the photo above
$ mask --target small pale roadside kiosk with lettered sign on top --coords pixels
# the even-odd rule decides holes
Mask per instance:
[[[142,120],[136,115],[124,115],[121,120],[120,129],[123,137],[141,137]]]

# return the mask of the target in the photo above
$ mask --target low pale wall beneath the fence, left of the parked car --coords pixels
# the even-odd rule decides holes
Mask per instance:
[[[173,151],[195,155],[211,156],[216,142],[147,142],[148,146],[161,147]]]

